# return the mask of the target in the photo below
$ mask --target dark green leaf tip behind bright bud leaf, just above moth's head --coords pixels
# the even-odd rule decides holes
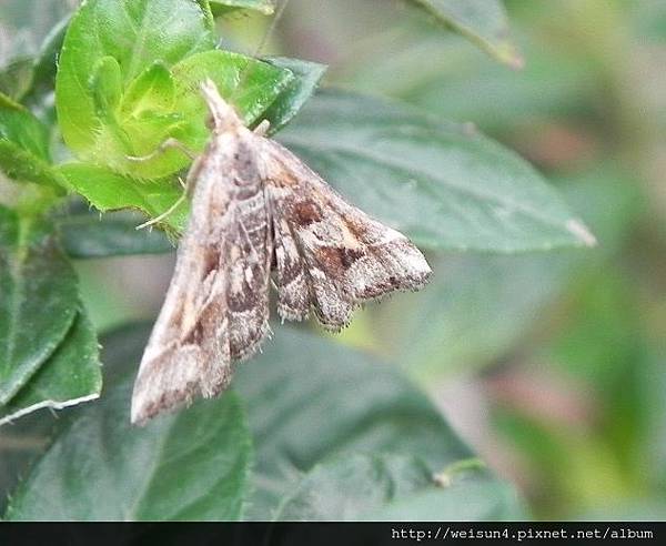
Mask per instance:
[[[295,77],[262,114],[262,119],[271,122],[270,133],[273,134],[299,113],[316,90],[327,67],[317,62],[289,59],[286,57],[272,57],[266,61],[275,67],[289,70]]]

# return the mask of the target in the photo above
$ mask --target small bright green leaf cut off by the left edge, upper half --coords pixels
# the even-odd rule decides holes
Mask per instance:
[[[60,188],[50,165],[49,130],[9,97],[0,94],[0,171],[20,182]]]

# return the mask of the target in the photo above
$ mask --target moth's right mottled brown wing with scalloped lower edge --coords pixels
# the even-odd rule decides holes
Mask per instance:
[[[340,330],[360,303],[427,283],[431,269],[407,237],[345,202],[285,148],[263,142],[283,318],[313,310]]]

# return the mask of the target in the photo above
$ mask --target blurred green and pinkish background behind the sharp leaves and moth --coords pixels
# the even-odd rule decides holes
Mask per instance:
[[[39,3],[0,3],[0,64],[33,52],[77,2]],[[431,256],[428,290],[366,309],[335,338],[398,363],[536,518],[665,518],[666,1],[505,4],[522,70],[398,0],[291,0],[262,51],[329,63],[329,85],[475,123],[598,239]],[[226,44],[253,52],[270,20],[224,24]],[[95,324],[154,316],[171,266],[79,264]]]

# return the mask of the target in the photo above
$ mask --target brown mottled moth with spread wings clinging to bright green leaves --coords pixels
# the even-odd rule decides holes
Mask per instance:
[[[282,320],[312,311],[339,331],[359,304],[418,290],[431,275],[404,235],[244,127],[212,81],[201,91],[212,135],[188,174],[189,224],[134,383],[138,424],[229,385],[232,363],[252,356],[270,331],[271,282]]]

